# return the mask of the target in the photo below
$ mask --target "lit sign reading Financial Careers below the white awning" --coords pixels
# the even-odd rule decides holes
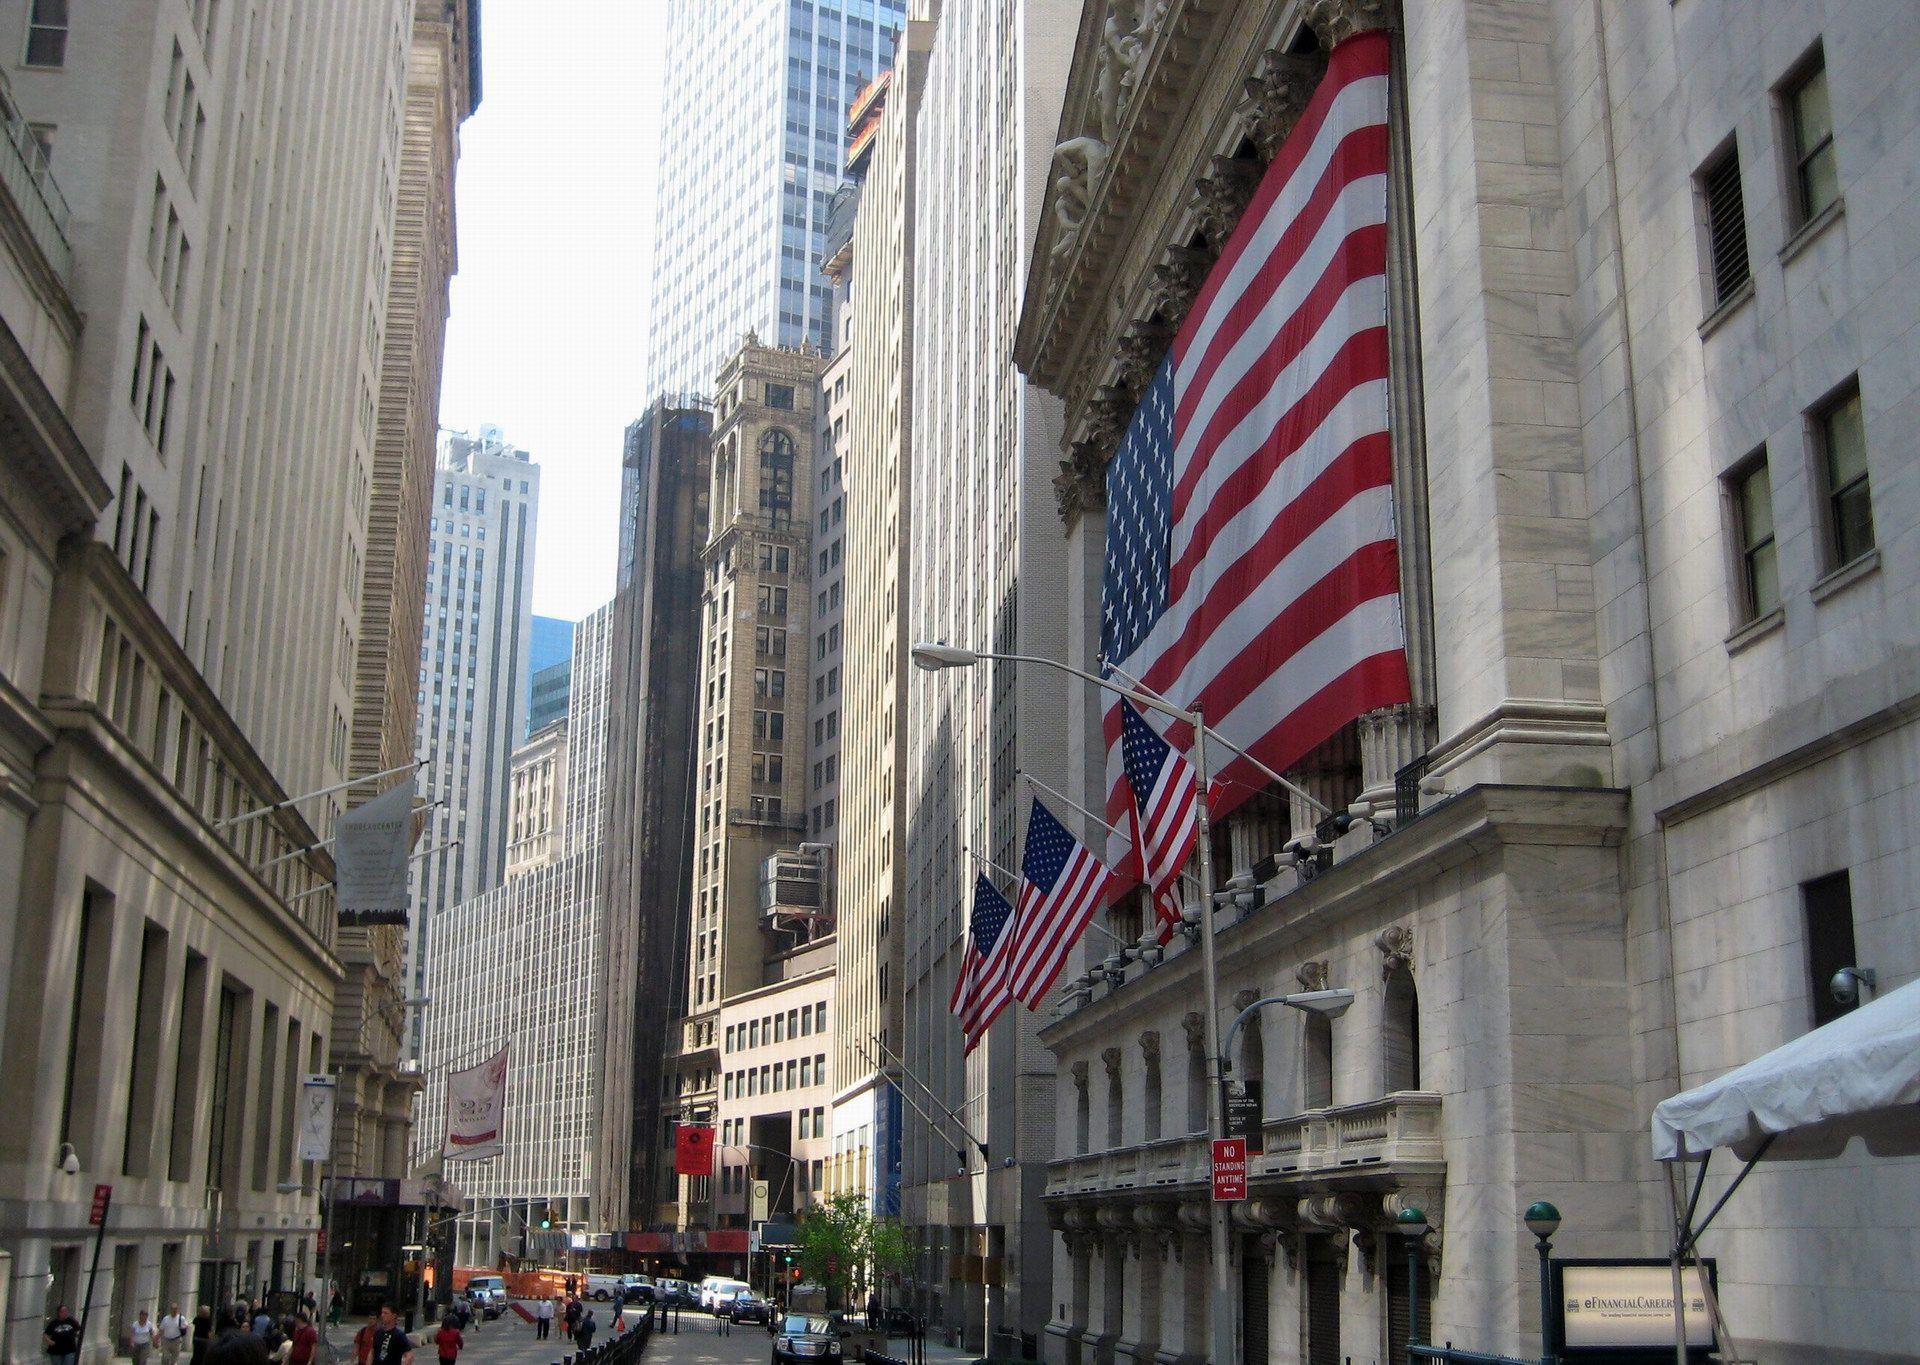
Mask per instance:
[[[1713,1257],[1707,1281],[1716,1284]],[[1690,1352],[1715,1346],[1713,1317],[1699,1288],[1699,1271],[1680,1271]],[[1569,1359],[1672,1359],[1674,1281],[1663,1259],[1553,1259],[1557,1336]]]

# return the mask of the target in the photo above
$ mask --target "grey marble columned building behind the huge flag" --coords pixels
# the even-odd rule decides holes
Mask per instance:
[[[1263,1083],[1235,1206],[1244,1359],[1538,1350],[1532,1200],[1565,1256],[1663,1256],[1655,1102],[1914,975],[1920,102],[1901,4],[1114,0],[1085,8],[1016,359],[1066,405],[1098,647],[1104,465],[1325,54],[1394,48],[1388,330],[1413,706],[1227,822],[1229,1058]],[[1104,785],[1068,708],[1075,795]],[[1903,814],[1908,812],[1908,814]],[[1223,874],[1225,875],[1225,874]],[[1110,912],[1137,933],[1137,908]],[[1131,920],[1129,920],[1131,916]],[[1050,1359],[1208,1355],[1198,954],[1100,971],[1058,1058]],[[1916,1167],[1763,1167],[1707,1238],[1761,1361],[1901,1359]],[[1724,1188],[1724,1186],[1722,1186]],[[1716,1196],[1713,1183],[1707,1198]]]

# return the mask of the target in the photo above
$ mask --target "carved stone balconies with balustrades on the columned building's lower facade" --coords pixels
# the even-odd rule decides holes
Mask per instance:
[[[1436,1185],[1446,1171],[1440,1096],[1430,1090],[1269,1119],[1265,1146],[1248,1169],[1256,1192],[1261,1185],[1300,1186],[1296,1192],[1388,1190]],[[1048,1163],[1046,1198],[1100,1200],[1129,1190],[1202,1194],[1210,1160],[1202,1133],[1069,1156]]]

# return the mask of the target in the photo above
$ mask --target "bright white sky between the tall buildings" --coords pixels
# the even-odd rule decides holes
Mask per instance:
[[[482,0],[480,25],[440,424],[493,422],[540,465],[534,611],[578,620],[612,597],[645,409],[666,0]]]

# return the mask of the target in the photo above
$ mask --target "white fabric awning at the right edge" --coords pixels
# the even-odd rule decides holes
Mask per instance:
[[[1730,1146],[1751,1160],[1839,1156],[1855,1137],[1876,1156],[1920,1152],[1920,981],[1889,991],[1716,1081],[1653,1110],[1653,1158]]]

